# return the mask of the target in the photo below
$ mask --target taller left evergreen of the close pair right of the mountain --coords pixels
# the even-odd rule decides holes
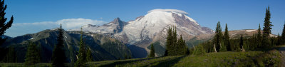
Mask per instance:
[[[220,48],[222,47],[222,27],[219,24],[219,21],[217,23],[217,28],[216,28],[216,34],[214,35],[214,48],[216,49],[217,52],[219,52]]]

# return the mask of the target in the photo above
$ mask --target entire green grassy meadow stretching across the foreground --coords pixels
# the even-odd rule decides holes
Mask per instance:
[[[284,48],[285,46],[277,46]],[[284,51],[284,50],[283,50]],[[283,53],[284,54],[284,53]],[[271,51],[248,51],[248,52],[219,52],[205,53],[204,55],[190,56],[166,56],[157,58],[133,58],[115,61],[95,61],[88,62],[88,67],[215,67],[215,66],[235,66],[235,67],[279,67],[281,65],[282,53],[280,50]],[[72,66],[71,63],[66,63]],[[23,67],[24,63],[0,63],[1,67]],[[32,67],[51,67],[51,63],[37,63]]]

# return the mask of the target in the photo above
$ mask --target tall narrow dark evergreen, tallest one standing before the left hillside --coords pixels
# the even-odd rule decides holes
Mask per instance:
[[[64,63],[66,62],[66,54],[64,51],[64,41],[63,41],[63,29],[58,29],[58,43],[56,47],[53,49],[52,56],[52,66],[54,67],[64,67]]]

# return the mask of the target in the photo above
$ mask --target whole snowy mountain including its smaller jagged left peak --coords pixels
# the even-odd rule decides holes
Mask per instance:
[[[195,38],[195,41],[205,38],[209,39],[214,31],[207,27],[200,26],[197,21],[190,18],[188,13],[176,9],[154,9],[148,11],[145,16],[139,16],[134,21],[120,21],[115,19],[109,24],[103,26],[86,25],[83,26],[83,31],[89,31],[93,33],[111,34],[112,37],[122,41],[125,44],[129,44],[128,47],[133,53],[134,58],[145,57],[147,55],[147,46],[150,43],[160,43],[162,47],[160,50],[165,50],[165,39],[167,36],[167,29],[172,26],[176,26],[177,36],[182,37],[189,41]],[[81,29],[72,29],[69,31],[80,31]],[[191,45],[190,43],[189,45]],[[140,51],[138,51],[140,49]],[[162,56],[164,52],[159,53],[158,56]],[[137,55],[137,56],[134,56]]]

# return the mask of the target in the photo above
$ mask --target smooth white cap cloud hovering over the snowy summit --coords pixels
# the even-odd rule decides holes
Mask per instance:
[[[165,12],[176,12],[176,13],[180,13],[180,14],[188,14],[185,11],[181,11],[181,10],[177,10],[177,9],[152,9],[150,11],[147,11],[147,13],[153,12],[153,11],[165,11]]]

